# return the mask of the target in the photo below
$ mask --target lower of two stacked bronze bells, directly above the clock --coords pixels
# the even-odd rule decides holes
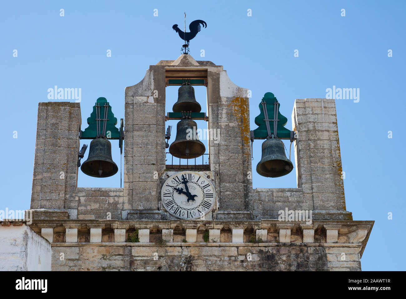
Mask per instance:
[[[206,147],[199,140],[196,131],[197,124],[193,120],[179,121],[176,127],[176,139],[169,147],[169,153],[181,159],[192,159],[203,155]]]

